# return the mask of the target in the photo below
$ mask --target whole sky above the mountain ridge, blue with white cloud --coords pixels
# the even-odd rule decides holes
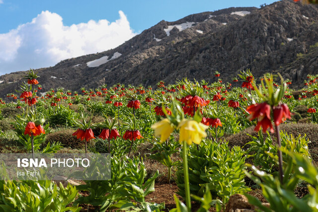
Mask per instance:
[[[0,74],[115,48],[160,20],[274,1],[0,0]]]

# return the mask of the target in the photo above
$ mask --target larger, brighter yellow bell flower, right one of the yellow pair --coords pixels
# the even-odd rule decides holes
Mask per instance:
[[[186,141],[188,145],[191,145],[192,142],[199,144],[203,138],[207,137],[205,130],[209,127],[194,120],[183,120],[178,128],[180,128],[179,142]]]

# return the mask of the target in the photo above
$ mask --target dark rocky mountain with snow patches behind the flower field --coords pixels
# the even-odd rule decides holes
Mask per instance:
[[[256,7],[231,7],[155,26],[115,49],[61,61],[36,70],[43,91],[79,90],[115,83],[155,85],[188,77],[232,81],[250,69],[255,77],[280,72],[303,85],[318,71],[318,6],[281,0]],[[17,89],[25,71],[0,76],[0,95]]]

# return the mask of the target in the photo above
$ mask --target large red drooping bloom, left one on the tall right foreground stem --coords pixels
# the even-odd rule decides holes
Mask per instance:
[[[246,111],[249,113],[247,119],[253,120],[258,118],[257,125],[254,131],[259,131],[260,127],[263,128],[263,132],[265,133],[268,128],[270,131],[274,133],[274,129],[272,123],[270,121],[270,105],[266,102],[260,104],[253,104],[246,108]]]

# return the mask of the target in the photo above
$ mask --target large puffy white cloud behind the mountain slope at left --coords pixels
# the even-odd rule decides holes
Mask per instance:
[[[31,22],[0,34],[0,73],[54,66],[115,48],[135,35],[123,11],[111,23],[103,19],[71,26],[64,26],[59,14],[42,11]]]

